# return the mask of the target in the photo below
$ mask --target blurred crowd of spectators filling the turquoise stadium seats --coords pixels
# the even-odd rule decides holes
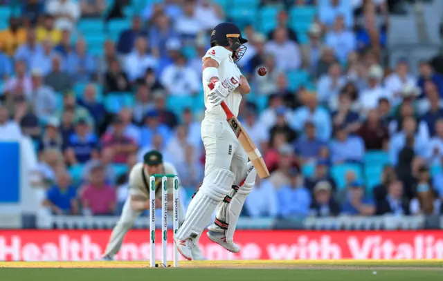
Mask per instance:
[[[428,61],[419,75],[407,58],[386,67],[392,1],[233,2],[1,6],[0,139],[33,139],[43,204],[119,213],[127,173],[151,149],[192,194],[204,172],[201,57],[211,28],[230,20],[249,40],[239,119],[271,172],[244,215],[442,213],[443,76]],[[262,19],[235,13],[248,5]]]

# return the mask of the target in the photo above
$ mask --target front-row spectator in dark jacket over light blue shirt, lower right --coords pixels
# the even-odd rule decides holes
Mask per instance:
[[[388,186],[388,194],[383,200],[377,201],[377,215],[408,215],[409,208],[403,197],[403,184],[393,180]]]

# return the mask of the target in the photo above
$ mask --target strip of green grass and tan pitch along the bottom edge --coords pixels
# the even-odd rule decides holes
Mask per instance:
[[[443,260],[180,262],[151,269],[149,262],[0,262],[1,281],[442,281]]]

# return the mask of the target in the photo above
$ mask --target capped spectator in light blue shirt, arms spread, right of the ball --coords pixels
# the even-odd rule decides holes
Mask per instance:
[[[316,125],[316,137],[322,141],[327,141],[332,133],[329,112],[325,108],[318,106],[315,93],[305,93],[302,97],[302,103],[303,106],[294,111],[289,124],[300,132],[308,120],[314,122]]]

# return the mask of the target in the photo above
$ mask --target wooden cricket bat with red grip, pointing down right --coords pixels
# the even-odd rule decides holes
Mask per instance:
[[[212,83],[208,86],[211,90],[214,88],[214,84]],[[239,143],[242,144],[244,151],[246,151],[246,154],[249,157],[249,160],[254,165],[255,170],[257,171],[257,175],[261,179],[269,177],[269,171],[266,167],[266,164],[264,164],[262,154],[260,153],[260,151],[258,151],[257,146],[255,146],[255,144],[252,142],[251,137],[249,137],[248,133],[246,133],[246,130],[244,130],[242,124],[240,124],[237,117],[233,115],[232,111],[230,111],[224,101],[221,101],[220,106],[221,108],[223,108],[224,113],[226,113],[226,121],[228,121],[230,128],[234,131],[234,134],[237,137]]]

